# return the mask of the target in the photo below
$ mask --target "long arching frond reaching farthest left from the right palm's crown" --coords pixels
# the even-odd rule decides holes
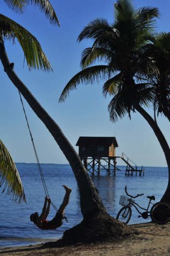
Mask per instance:
[[[113,73],[112,67],[106,65],[98,65],[87,67],[79,73],[73,76],[67,83],[64,90],[61,93],[59,102],[65,101],[71,90],[75,90],[79,84],[93,84],[94,82],[99,83],[106,77],[109,78]]]

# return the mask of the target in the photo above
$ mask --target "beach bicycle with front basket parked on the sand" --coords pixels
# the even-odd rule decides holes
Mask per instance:
[[[151,201],[154,201],[155,197],[147,196],[149,199],[148,206],[147,208],[143,208],[141,205],[137,204],[134,199],[143,196],[144,194],[138,194],[136,196],[129,195],[129,193],[127,193],[127,186],[125,186],[125,192],[129,198],[127,196],[120,196],[119,203],[123,205],[123,207],[118,211],[116,219],[127,224],[132,216],[133,206],[140,214],[138,217],[142,217],[143,219],[151,217],[151,220],[158,224],[165,224],[170,220],[170,205],[167,202],[157,202],[156,204],[153,204]],[[151,204],[153,206],[151,207],[151,210],[149,210]]]

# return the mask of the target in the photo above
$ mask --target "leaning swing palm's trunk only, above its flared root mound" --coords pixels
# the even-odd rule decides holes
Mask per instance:
[[[105,207],[103,206],[99,194],[97,193],[96,187],[91,181],[90,176],[88,176],[87,170],[83,166],[82,161],[80,160],[76,151],[71,146],[70,142],[68,142],[59,126],[49,116],[44,108],[41,107],[31,92],[29,92],[25,84],[23,84],[22,81],[20,81],[20,79],[17,77],[16,73],[10,66],[10,61],[8,60],[5,46],[2,42],[0,42],[0,58],[2,65],[4,66],[4,70],[7,72],[7,75],[14,86],[17,87],[35,114],[37,114],[44,125],[46,125],[47,129],[52,134],[56,143],[58,143],[59,148],[62,150],[68,162],[70,163],[80,191],[80,207],[82,210],[83,218],[86,219],[92,214],[98,214],[102,212],[106,213]]]

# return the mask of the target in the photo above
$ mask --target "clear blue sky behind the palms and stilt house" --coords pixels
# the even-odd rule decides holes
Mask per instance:
[[[58,16],[60,27],[49,23],[38,8],[29,6],[25,13],[16,14],[1,1],[1,13],[20,23],[34,34],[40,42],[53,67],[53,72],[28,70],[22,49],[17,44],[5,42],[8,57],[14,62],[14,70],[40,104],[58,123],[63,133],[74,146],[79,136],[115,136],[118,142],[116,155],[122,152],[138,166],[167,166],[165,156],[156,136],[147,122],[135,113],[132,120],[127,116],[112,123],[109,120],[108,104],[111,98],[103,98],[102,85],[80,85],[70,93],[64,103],[58,103],[59,96],[67,82],[80,71],[82,50],[91,46],[90,40],[77,42],[83,27],[97,17],[112,23],[114,2],[111,0],[51,0]],[[157,31],[169,31],[170,1],[134,0],[136,8],[157,7],[160,18]],[[0,139],[10,151],[16,163],[35,163],[35,155],[23,115],[19,93],[8,79],[0,63]],[[26,114],[40,163],[68,163],[49,131],[24,101]],[[150,114],[152,111],[150,110]],[[159,126],[170,142],[169,122],[159,117]],[[118,162],[118,164],[122,164]]]

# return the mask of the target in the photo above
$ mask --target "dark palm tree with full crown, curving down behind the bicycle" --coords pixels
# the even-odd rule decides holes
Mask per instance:
[[[145,110],[155,104],[155,92],[150,81],[145,81],[145,70],[155,69],[153,58],[148,57],[148,45],[153,39],[157,8],[143,7],[135,10],[130,0],[118,0],[115,7],[115,22],[109,25],[106,19],[95,19],[80,33],[79,42],[92,39],[93,46],[82,52],[82,70],[71,78],[61,93],[59,101],[67,98],[70,90],[80,83],[106,80],[103,95],[114,95],[109,104],[113,122],[126,114],[138,111],[147,120],[162,146],[169,169],[169,183],[163,200],[170,202],[170,149],[156,120]],[[95,65],[97,61],[106,63]],[[143,82],[143,83],[142,83]]]

